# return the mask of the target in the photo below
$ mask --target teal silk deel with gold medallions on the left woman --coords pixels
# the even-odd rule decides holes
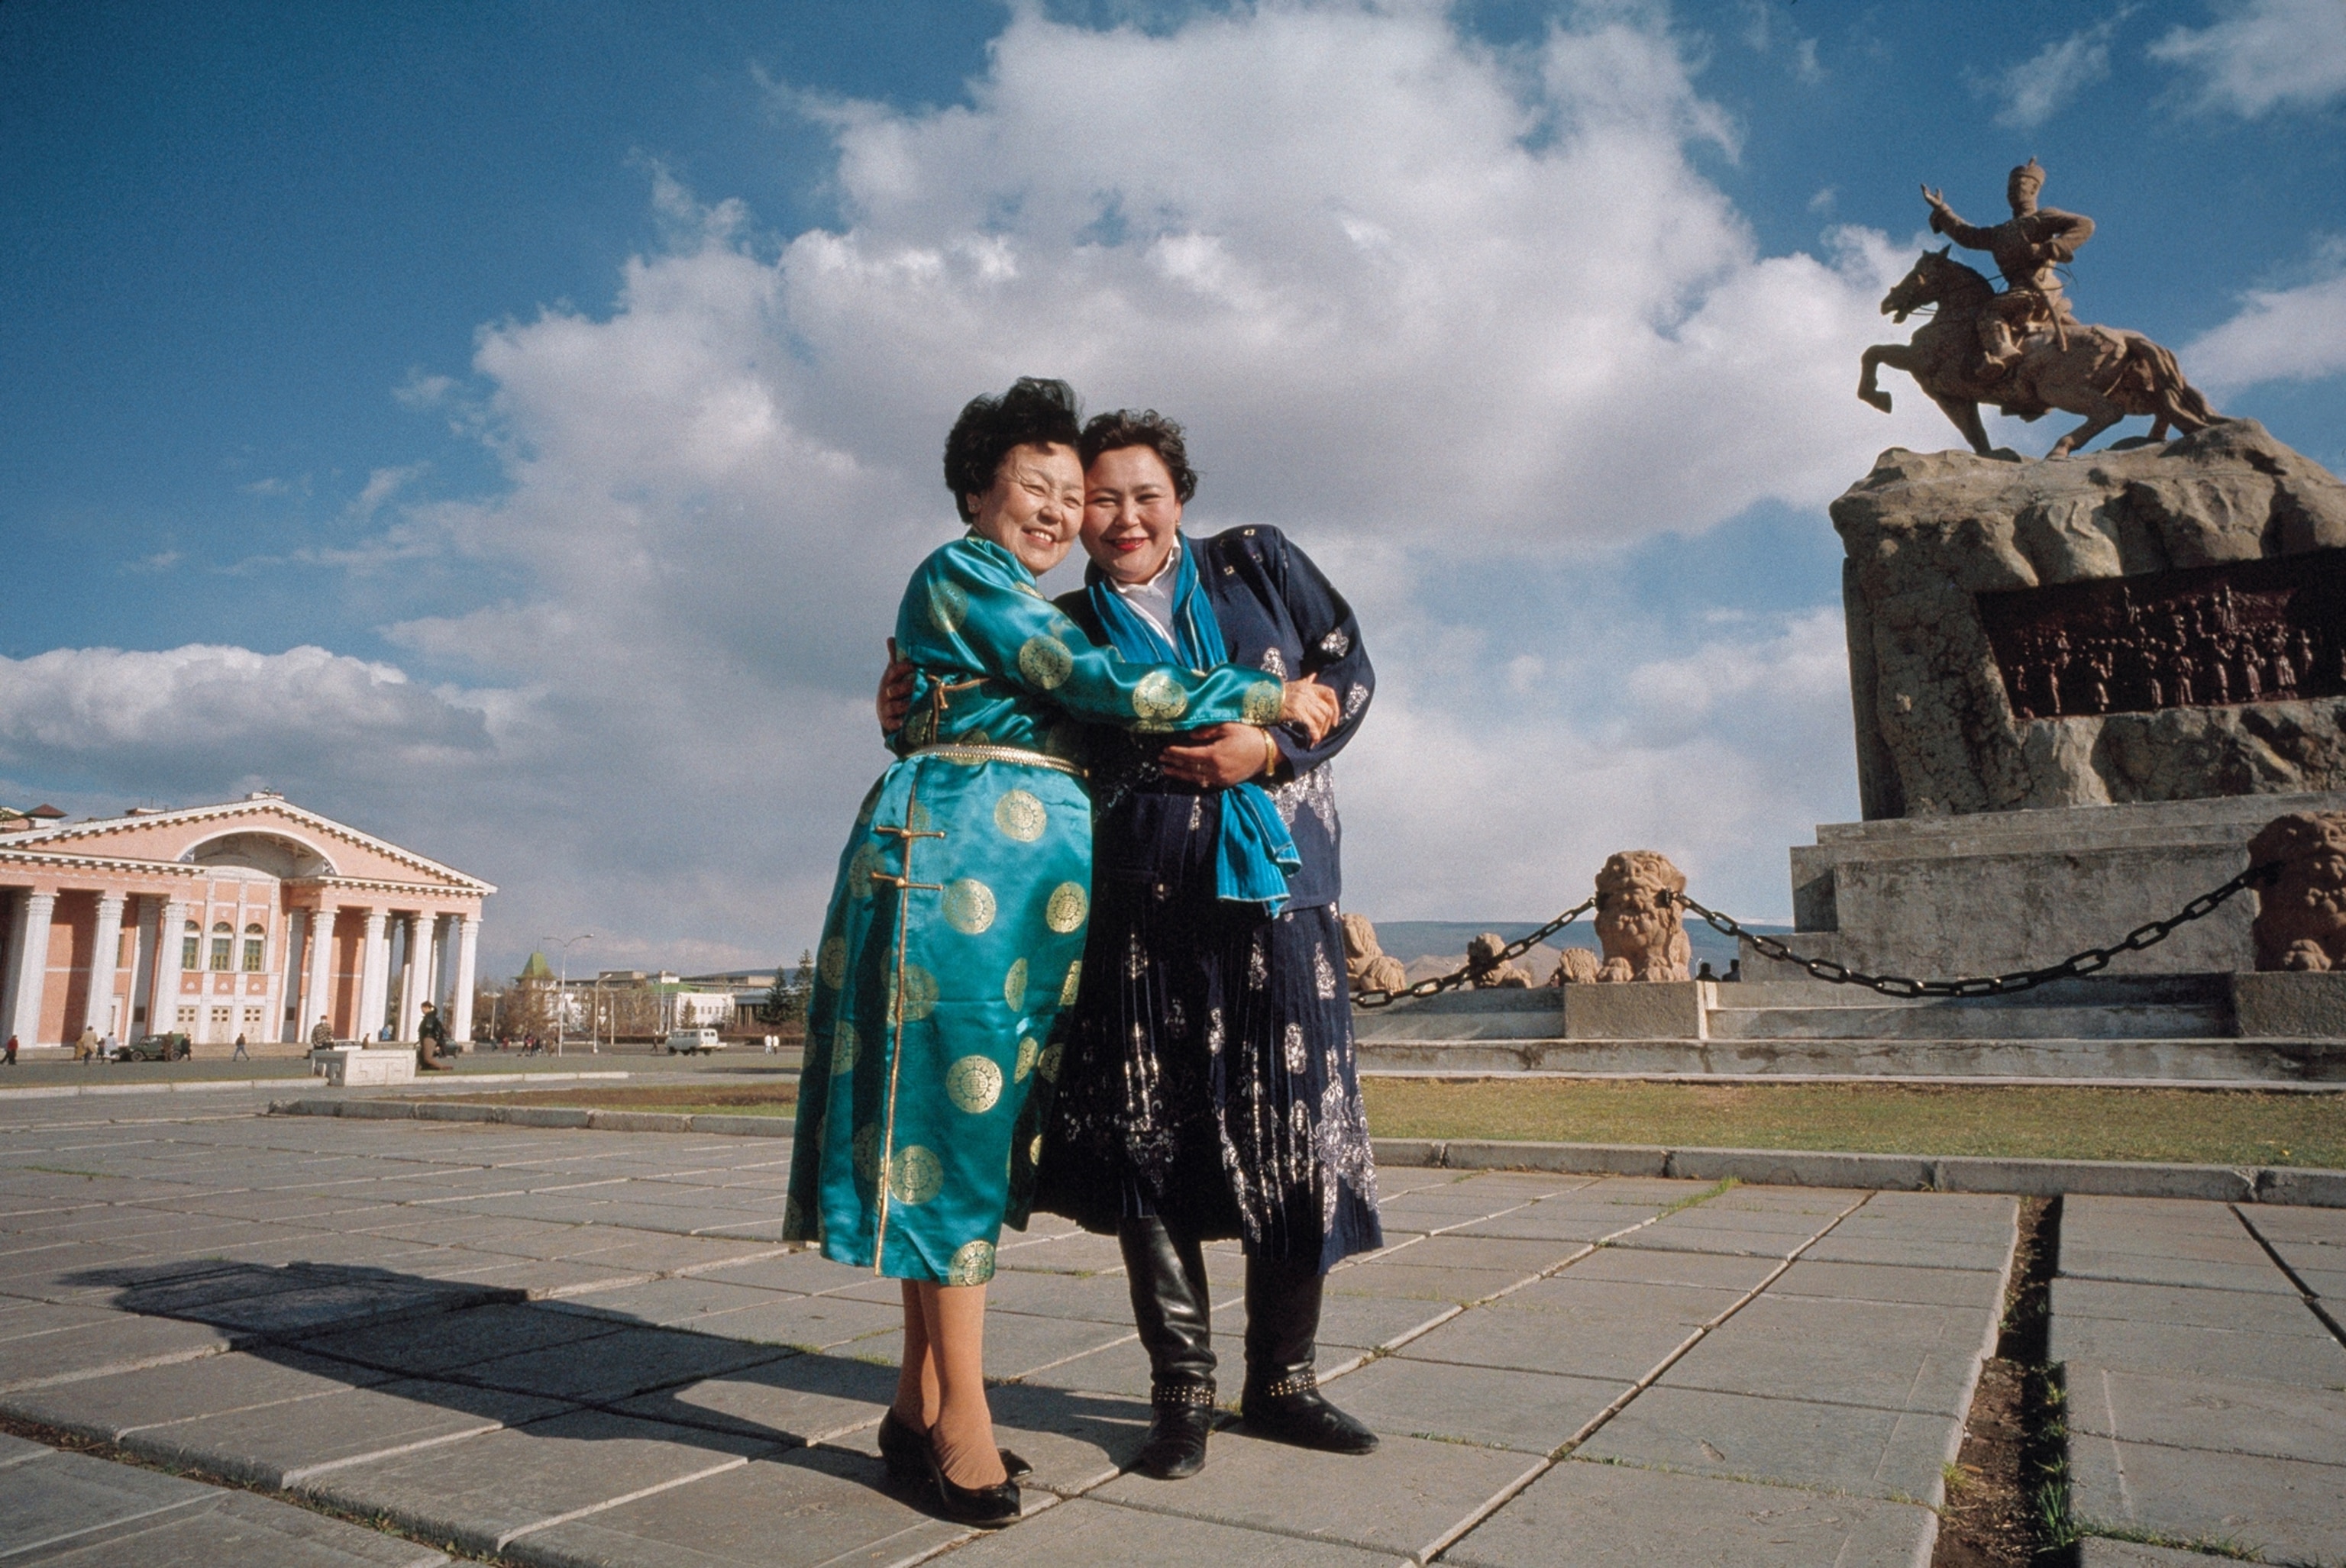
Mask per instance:
[[[823,919],[784,1240],[899,1280],[983,1284],[1039,1153],[1091,914],[1079,724],[1272,724],[1279,682],[1126,663],[1002,546],[931,553],[896,612],[915,666]],[[1049,1045],[1049,1048],[1046,1048]],[[1018,1209],[1023,1223],[1023,1205]]]

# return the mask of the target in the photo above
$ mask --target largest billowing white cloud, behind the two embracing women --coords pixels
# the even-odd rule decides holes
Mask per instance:
[[[945,427],[1046,373],[1182,417],[1194,520],[1288,527],[1361,605],[1384,691],[1342,764],[1356,902],[1555,907],[1647,841],[1720,902],[1781,912],[1785,841],[1853,797],[1825,621],[1701,654],[1635,626],[1565,647],[1422,593],[1433,567],[1605,572],[1760,502],[1818,506],[1884,445],[1952,441],[1924,398],[1881,417],[1851,396],[1912,253],[1837,230],[1762,255],[1694,162],[1736,129],[1661,21],[1593,14],[1516,59],[1431,5],[1157,30],[1018,9],[969,103],[819,113],[840,227],[777,246],[655,171],[669,246],[608,312],[483,330],[467,420],[509,492],[404,506],[396,469],[371,480],[389,527],[350,570],[443,553],[521,588],[392,628],[467,691],[350,661],[289,696],[253,668],[256,705],[303,715],[258,755],[335,759],[310,804],[382,811],[364,825],[500,881],[493,952],[565,923],[617,933],[612,963],[795,954],[884,762],[870,684],[896,595],[950,534]],[[1738,663],[1767,687],[1720,687]],[[305,703],[338,736],[378,713],[380,745],[357,720],[307,745]],[[16,755],[91,776],[150,755],[87,722],[101,738],[59,720]],[[169,734],[223,778],[258,766]],[[364,773],[432,745],[394,771],[404,797]]]

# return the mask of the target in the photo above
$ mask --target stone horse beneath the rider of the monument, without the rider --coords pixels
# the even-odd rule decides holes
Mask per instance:
[[[2184,380],[2172,354],[2121,328],[2055,323],[2025,340],[2011,370],[1992,370],[1978,354],[1978,316],[1996,291],[1950,251],[1924,251],[1914,270],[1881,295],[1881,314],[1893,321],[1924,305],[1938,307],[1910,342],[1865,349],[1858,396],[1881,413],[1891,410],[1891,394],[1874,377],[1891,366],[1912,375],[1982,455],[1992,448],[1980,427],[1980,403],[1996,403],[2020,420],[2041,420],[2053,408],[2086,415],[2046,457],[2067,457],[2128,415],[2151,417],[2151,441],[2165,441],[2170,424],[2189,434],[2222,417]]]

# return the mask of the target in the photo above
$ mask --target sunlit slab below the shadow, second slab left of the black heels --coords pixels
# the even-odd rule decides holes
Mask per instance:
[[[730,1432],[572,1411],[455,1448],[345,1465],[300,1491],[467,1552],[500,1552],[526,1530],[734,1470],[769,1451]]]

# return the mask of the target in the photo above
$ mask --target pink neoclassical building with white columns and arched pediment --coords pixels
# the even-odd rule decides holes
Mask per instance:
[[[472,1034],[481,900],[439,860],[277,795],[87,823],[0,823],[0,1036],[59,1045],[91,1027],[272,1055],[326,1020],[413,1041],[436,1001]],[[399,1015],[392,1017],[394,975]],[[204,1052],[211,1055],[211,1052]]]

